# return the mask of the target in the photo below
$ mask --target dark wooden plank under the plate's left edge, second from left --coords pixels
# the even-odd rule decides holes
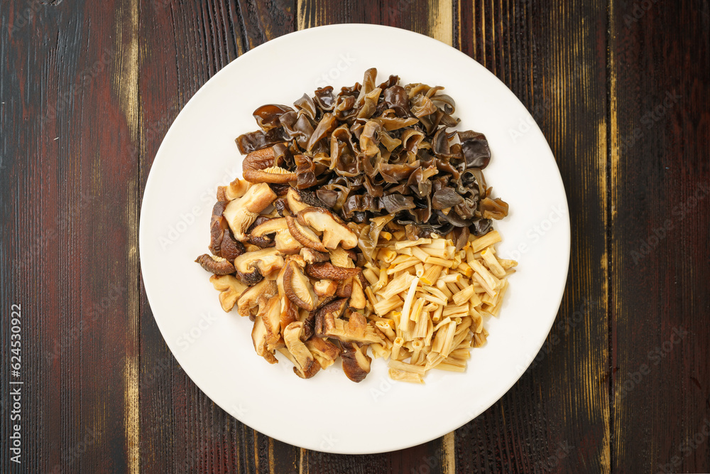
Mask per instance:
[[[141,133],[134,150],[144,186],[160,141],[187,100],[239,54],[293,31],[295,16],[285,0],[143,1],[140,16]],[[300,459],[298,448],[219,409],[180,370],[142,281],[141,427],[146,472],[280,473],[293,471]]]

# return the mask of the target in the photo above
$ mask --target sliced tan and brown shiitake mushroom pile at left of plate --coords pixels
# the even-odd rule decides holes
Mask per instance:
[[[212,272],[224,311],[236,306],[254,322],[256,353],[310,378],[342,357],[360,382],[371,358],[362,345],[382,343],[364,310],[366,281],[356,268],[357,236],[337,215],[310,205],[295,188],[279,198],[266,183],[239,179],[219,189],[211,221],[210,254],[196,262]]]

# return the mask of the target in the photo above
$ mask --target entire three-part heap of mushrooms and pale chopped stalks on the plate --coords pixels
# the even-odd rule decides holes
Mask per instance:
[[[442,87],[375,78],[254,112],[261,129],[236,140],[244,180],[217,191],[196,260],[222,309],[253,321],[258,355],[302,378],[340,357],[360,382],[368,348],[394,379],[464,370],[514,271],[493,248],[508,205],[484,181],[486,137],[448,131]]]

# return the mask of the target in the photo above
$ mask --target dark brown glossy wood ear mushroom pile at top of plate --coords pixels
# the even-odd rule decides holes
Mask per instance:
[[[362,85],[342,87],[337,96],[328,86],[293,107],[256,109],[261,129],[236,139],[249,153],[244,178],[312,190],[343,220],[361,225],[369,261],[373,217],[394,220],[414,239],[452,230],[484,235],[491,219],[508,214],[508,204],[486,187],[486,136],[449,131],[459,119],[443,87],[399,85],[394,75],[376,85],[376,75],[368,69]]]

